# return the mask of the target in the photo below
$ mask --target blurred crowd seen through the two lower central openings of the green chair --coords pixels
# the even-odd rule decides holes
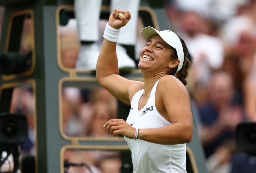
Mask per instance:
[[[71,137],[112,137],[103,125],[117,118],[117,100],[102,88],[63,88],[62,127]],[[100,150],[66,150],[64,160],[85,164],[71,166],[66,173],[119,173],[122,163],[119,152]],[[88,168],[89,167],[89,168]]]

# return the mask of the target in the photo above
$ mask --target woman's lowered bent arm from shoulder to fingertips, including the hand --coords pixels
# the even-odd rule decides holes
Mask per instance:
[[[193,118],[188,92],[183,84],[173,84],[169,80],[169,76],[161,80],[161,83],[158,84],[159,96],[172,125],[154,129],[139,129],[139,139],[144,133],[142,140],[152,143],[166,145],[188,143],[193,134]],[[113,136],[121,134],[130,139],[134,138],[135,128],[124,120],[112,119],[106,123],[106,126]]]

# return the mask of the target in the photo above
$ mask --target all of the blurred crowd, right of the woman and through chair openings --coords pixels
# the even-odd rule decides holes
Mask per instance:
[[[237,149],[234,132],[241,122],[256,121],[256,0],[166,0],[165,10],[170,27],[166,29],[184,39],[192,57],[187,89],[207,169],[210,173],[255,172],[256,158]],[[100,38],[105,24],[105,19],[99,21]],[[145,44],[140,37],[143,27],[139,17],[134,60],[138,60],[140,48]],[[70,19],[58,30],[61,63],[66,68],[76,68],[81,48],[76,20]],[[31,90],[17,88],[13,97],[11,111],[22,110],[27,117],[33,117]],[[117,118],[118,106],[108,91],[63,88],[61,101],[65,135],[111,137],[102,126]],[[32,118],[29,125],[31,141],[24,144],[23,150],[34,153]],[[84,156],[67,151],[64,157],[80,158],[77,155]],[[108,157],[108,161],[119,158],[115,153]],[[91,161],[95,161],[95,170],[103,170],[104,164],[99,165],[99,159]]]

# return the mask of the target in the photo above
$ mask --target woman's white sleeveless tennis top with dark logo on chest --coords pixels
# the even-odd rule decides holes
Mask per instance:
[[[131,101],[131,109],[126,120],[135,128],[159,128],[171,125],[155,106],[156,86],[154,85],[148,102],[141,110],[138,110],[140,97],[143,90],[134,94]],[[161,145],[137,139],[124,137],[131,152],[133,173],[186,173],[186,144]]]

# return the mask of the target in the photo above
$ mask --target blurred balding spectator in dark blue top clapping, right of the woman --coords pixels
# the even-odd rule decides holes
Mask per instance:
[[[213,73],[208,93],[208,102],[199,107],[201,124],[198,134],[208,158],[208,170],[212,173],[220,170],[228,172],[235,151],[232,142],[234,130],[243,119],[243,110],[241,105],[232,103],[235,90],[227,72]]]

